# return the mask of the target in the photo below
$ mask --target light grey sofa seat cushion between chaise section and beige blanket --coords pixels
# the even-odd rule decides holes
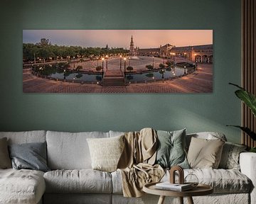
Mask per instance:
[[[105,171],[55,170],[43,177],[47,193],[112,193],[111,174]]]

